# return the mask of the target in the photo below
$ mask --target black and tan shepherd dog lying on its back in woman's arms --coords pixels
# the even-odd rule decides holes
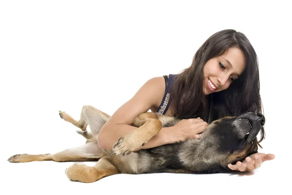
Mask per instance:
[[[257,152],[259,144],[256,136],[261,131],[260,141],[262,140],[265,123],[265,117],[260,113],[223,117],[213,121],[201,133],[200,139],[189,138],[182,142],[134,152],[162,127],[173,126],[180,119],[143,113],[132,124],[138,128],[120,137],[111,151],[100,149],[97,143],[100,129],[110,118],[108,114],[92,106],[83,106],[78,121],[66,112],[59,111],[59,115],[81,129],[78,133],[87,139],[85,145],[54,155],[15,155],[8,161],[97,161],[93,167],[75,163],[66,169],[69,179],[86,183],[119,173],[222,173],[231,171],[227,167],[229,163],[241,161]],[[91,131],[86,130],[88,125]]]

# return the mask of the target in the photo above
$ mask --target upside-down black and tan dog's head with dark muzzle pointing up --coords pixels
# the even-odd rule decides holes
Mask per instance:
[[[210,155],[210,162],[213,162],[210,166],[229,170],[227,164],[242,161],[256,153],[258,143],[264,138],[264,124],[265,117],[260,113],[245,113],[213,121],[201,138],[203,153],[212,151],[213,154]],[[256,136],[260,131],[261,138],[258,141]]]

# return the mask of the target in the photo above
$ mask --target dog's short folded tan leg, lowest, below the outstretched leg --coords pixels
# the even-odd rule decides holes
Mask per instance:
[[[102,157],[94,167],[75,163],[65,171],[67,177],[74,181],[90,183],[105,176],[119,174],[119,170],[110,162],[108,156]]]

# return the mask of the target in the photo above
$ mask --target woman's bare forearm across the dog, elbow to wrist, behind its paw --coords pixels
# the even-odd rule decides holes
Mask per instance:
[[[136,151],[170,143],[168,138],[169,128],[171,127],[162,128],[156,136],[152,137],[144,146],[141,146],[141,148],[138,148]],[[125,124],[105,124],[98,135],[98,146],[102,149],[112,150],[113,144],[117,142],[120,137],[125,136],[135,129],[137,129],[137,127]]]

